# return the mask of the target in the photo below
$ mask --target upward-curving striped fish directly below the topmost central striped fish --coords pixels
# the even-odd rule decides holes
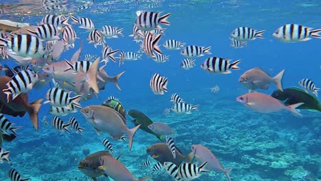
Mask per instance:
[[[156,37],[150,32],[147,32],[147,34],[145,34],[141,48],[145,52],[146,56],[154,58],[155,57],[154,51],[156,51],[156,53],[158,54],[163,54],[158,47],[158,41],[160,40],[161,37],[162,37],[161,34],[158,34]]]

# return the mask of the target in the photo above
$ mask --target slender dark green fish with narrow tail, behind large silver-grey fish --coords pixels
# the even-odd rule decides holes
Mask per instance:
[[[152,124],[153,121],[147,117],[146,114],[139,110],[128,110],[127,114],[133,118],[132,123],[134,123],[134,125],[141,125],[141,127],[139,127],[141,130],[154,134],[160,141],[163,141],[163,135],[156,134],[148,128],[148,125]]]

